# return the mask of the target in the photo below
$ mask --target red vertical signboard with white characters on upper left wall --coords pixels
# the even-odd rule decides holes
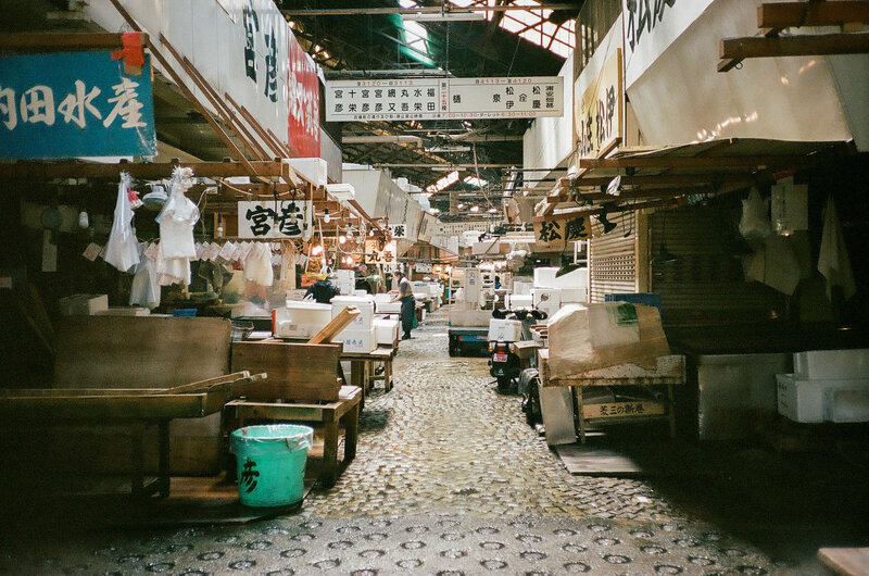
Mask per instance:
[[[314,60],[299,46],[292,34],[289,40],[290,92],[289,142],[300,158],[320,158],[319,78]]]

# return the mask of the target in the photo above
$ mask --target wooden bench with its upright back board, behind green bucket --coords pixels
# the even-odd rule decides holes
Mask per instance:
[[[353,460],[362,388],[344,386],[340,343],[288,342],[269,338],[234,342],[232,370],[265,372],[268,379],[248,389],[247,398],[225,411],[227,430],[245,421],[304,422],[323,430],[319,480],[336,483]],[[339,431],[344,429],[344,459],[339,467]]]

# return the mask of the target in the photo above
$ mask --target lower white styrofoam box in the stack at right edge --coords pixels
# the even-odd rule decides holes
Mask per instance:
[[[807,380],[799,379],[794,374],[777,374],[776,379],[778,380],[779,414],[794,422],[806,424],[832,421],[831,400],[837,392],[869,390],[869,378]],[[841,406],[840,411],[842,410],[846,410],[845,406]]]

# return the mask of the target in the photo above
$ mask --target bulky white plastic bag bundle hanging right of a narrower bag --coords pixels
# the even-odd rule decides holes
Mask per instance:
[[[163,210],[154,218],[160,224],[160,240],[163,258],[196,258],[193,226],[199,222],[199,209],[184,196],[192,186],[193,171],[176,167],[172,173],[169,197]]]

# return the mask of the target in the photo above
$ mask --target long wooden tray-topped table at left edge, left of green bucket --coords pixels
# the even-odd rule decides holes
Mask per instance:
[[[219,412],[263,375],[230,374],[173,389],[0,390],[3,425],[125,424],[133,429],[134,496],[169,496],[169,423]],[[185,390],[190,390],[189,392]],[[158,477],[144,484],[144,430],[158,426]]]

